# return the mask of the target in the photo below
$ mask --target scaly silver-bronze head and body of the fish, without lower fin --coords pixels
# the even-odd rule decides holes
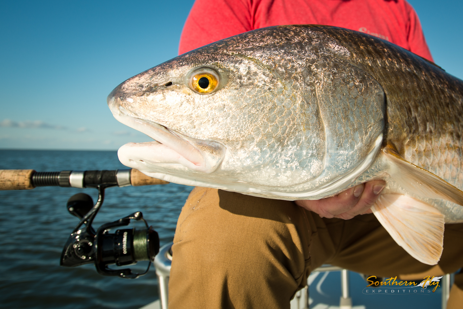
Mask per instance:
[[[208,93],[191,82],[204,74],[216,78]],[[462,102],[463,82],[427,60],[363,33],[316,25],[220,40],[108,96],[117,120],[156,140],[119,149],[123,164],[151,177],[286,200],[385,179],[384,193],[425,201],[446,222],[463,222],[463,207],[409,192],[391,177],[382,149],[391,145],[463,189]]]

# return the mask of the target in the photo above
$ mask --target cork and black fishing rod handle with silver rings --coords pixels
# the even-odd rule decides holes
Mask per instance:
[[[43,186],[96,188],[98,185],[147,186],[166,184],[167,181],[146,176],[136,169],[126,170],[0,170],[0,190],[25,190]]]

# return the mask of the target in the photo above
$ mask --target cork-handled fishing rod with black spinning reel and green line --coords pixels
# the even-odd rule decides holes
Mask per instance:
[[[142,212],[129,214],[119,220],[108,222],[96,231],[92,222],[110,187],[144,186],[168,182],[148,177],[136,169],[124,170],[62,170],[37,172],[35,170],[0,170],[0,190],[25,190],[35,187],[59,186],[72,188],[94,188],[98,190],[98,201],[85,193],[71,196],[67,202],[70,214],[79,218],[79,223],[69,235],[60,265],[75,267],[94,264],[105,276],[134,279],[145,275],[159,252],[159,235],[143,218]],[[124,228],[131,220],[143,221],[144,228]],[[109,265],[133,265],[149,261],[146,271],[133,273],[130,268],[113,269]]]

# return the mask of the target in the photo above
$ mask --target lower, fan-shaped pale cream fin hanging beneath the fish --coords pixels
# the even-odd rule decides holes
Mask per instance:
[[[444,215],[407,195],[382,194],[371,207],[395,242],[413,258],[436,265],[444,245]]]

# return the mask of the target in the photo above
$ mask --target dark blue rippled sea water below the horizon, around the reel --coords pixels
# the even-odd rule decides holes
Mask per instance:
[[[125,168],[116,151],[0,150],[0,169],[115,170]],[[157,186],[106,189],[94,227],[142,211],[159,233],[161,246],[172,241],[181,207],[192,187]],[[93,265],[59,266],[69,233],[78,223],[66,209],[68,198],[85,192],[96,201],[96,189],[38,187],[0,191],[0,295],[5,309],[137,309],[158,299],[154,268],[138,279],[99,275]],[[131,266],[143,272],[146,262]],[[367,309],[441,308],[441,290],[426,295],[364,295],[365,281],[350,272],[354,306]],[[340,274],[319,274],[310,286],[311,308],[339,305]],[[358,309],[363,307],[357,307]]]

